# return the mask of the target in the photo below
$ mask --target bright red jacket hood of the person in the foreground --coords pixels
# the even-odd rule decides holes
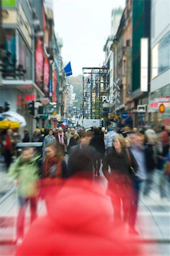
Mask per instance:
[[[98,233],[100,221],[112,221],[112,209],[108,211],[110,203],[104,188],[99,188],[91,180],[74,177],[66,181],[63,189],[57,193],[55,204],[54,200],[52,203],[50,218],[68,232],[77,230],[83,233],[91,230]],[[105,228],[110,229],[107,224],[102,227],[103,230]]]

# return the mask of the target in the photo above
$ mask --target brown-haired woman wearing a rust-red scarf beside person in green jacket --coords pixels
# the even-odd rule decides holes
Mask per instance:
[[[48,210],[53,196],[63,184],[63,178],[69,177],[67,165],[63,159],[63,150],[58,143],[49,143],[46,146],[40,197],[45,199]]]

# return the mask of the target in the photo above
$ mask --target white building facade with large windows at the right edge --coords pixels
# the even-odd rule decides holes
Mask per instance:
[[[150,122],[170,127],[170,2],[151,1]],[[164,105],[163,113],[160,105]]]

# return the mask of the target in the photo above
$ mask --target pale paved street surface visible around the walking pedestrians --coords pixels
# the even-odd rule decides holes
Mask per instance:
[[[95,177],[96,181],[107,186],[102,172],[100,177]],[[1,164],[1,199],[0,199],[0,255],[14,255],[15,253],[15,229],[16,216],[18,212],[17,197],[15,188],[11,182],[8,182],[5,167]],[[135,240],[141,242],[147,248],[148,255],[168,256],[170,254],[170,231],[169,231],[169,199],[160,199],[159,173],[155,172],[154,182],[151,185],[150,196],[143,196],[141,191],[137,230],[140,236]],[[168,192],[168,186],[165,187]],[[46,213],[44,201],[39,202],[39,215]],[[27,209],[27,218],[25,225],[28,228],[29,209]]]

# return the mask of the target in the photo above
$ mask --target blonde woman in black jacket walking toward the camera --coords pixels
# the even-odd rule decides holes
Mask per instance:
[[[135,163],[134,163],[135,165]],[[111,168],[111,173],[108,172]],[[108,180],[108,191],[114,209],[114,222],[119,224],[121,218],[121,203],[124,212],[124,221],[129,219],[131,180],[129,175],[129,161],[125,149],[125,139],[119,134],[113,137],[113,146],[107,152],[103,163],[103,173]]]

